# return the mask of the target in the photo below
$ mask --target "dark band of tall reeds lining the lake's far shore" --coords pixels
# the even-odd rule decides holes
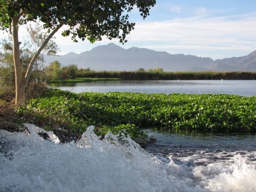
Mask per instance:
[[[137,70],[137,71],[94,71],[79,69],[77,77],[83,78],[120,78],[122,80],[256,80],[255,72],[170,72],[157,70]]]

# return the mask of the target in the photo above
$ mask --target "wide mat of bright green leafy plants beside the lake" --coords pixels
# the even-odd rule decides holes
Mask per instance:
[[[23,114],[83,132],[95,125],[99,134],[126,130],[143,136],[141,127],[207,132],[255,132],[256,97],[227,94],[71,93],[51,90],[31,99]],[[140,127],[140,129],[139,129]]]

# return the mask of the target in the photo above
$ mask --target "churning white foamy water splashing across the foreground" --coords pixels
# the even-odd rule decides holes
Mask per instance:
[[[30,134],[0,130],[1,191],[255,191],[256,165],[241,155],[188,166],[154,157],[130,138],[100,140],[93,126],[78,142],[60,144],[26,124]],[[256,154],[254,153],[254,156]]]

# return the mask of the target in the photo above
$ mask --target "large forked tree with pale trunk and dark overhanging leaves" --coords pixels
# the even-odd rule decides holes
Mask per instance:
[[[25,101],[25,88],[28,84],[33,65],[47,42],[62,27],[63,36],[71,35],[90,42],[100,41],[102,36],[119,38],[126,42],[126,35],[134,29],[135,23],[129,22],[129,13],[133,7],[145,19],[156,0],[0,0],[0,28],[9,31],[13,41],[13,60],[15,69],[15,103]],[[30,60],[26,73],[22,74],[20,61],[19,26],[28,21],[41,21],[49,35],[42,42],[34,57]]]

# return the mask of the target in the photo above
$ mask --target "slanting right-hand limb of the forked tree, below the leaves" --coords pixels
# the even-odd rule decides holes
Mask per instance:
[[[33,66],[35,61],[37,60],[39,54],[41,53],[41,51],[44,49],[44,47],[47,45],[47,43],[50,41],[50,39],[53,37],[53,35],[63,26],[63,24],[59,24],[51,33],[50,35],[44,40],[44,42],[42,43],[42,45],[39,47],[39,49],[37,50],[36,54],[34,55],[34,57],[31,59],[25,78],[23,79],[23,81],[25,81],[25,84],[28,83],[29,77],[31,75]]]

